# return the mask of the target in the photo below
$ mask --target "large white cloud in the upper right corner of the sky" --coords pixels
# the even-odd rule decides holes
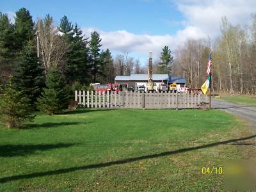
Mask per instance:
[[[173,1],[172,1],[173,2]],[[227,16],[234,25],[250,24],[251,13],[255,12],[255,0],[189,0],[174,1],[189,26],[201,29],[207,36],[220,33],[221,17]]]

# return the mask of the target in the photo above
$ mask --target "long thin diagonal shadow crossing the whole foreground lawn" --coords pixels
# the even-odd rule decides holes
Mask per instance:
[[[180,153],[183,153],[183,152],[198,150],[198,149],[201,149],[201,148],[208,148],[208,147],[224,145],[224,144],[228,144],[228,143],[232,143],[232,142],[236,142],[236,141],[249,140],[249,139],[255,138],[255,137],[256,137],[256,134],[252,135],[252,136],[245,137],[245,138],[238,138],[238,139],[233,139],[233,140],[220,141],[220,142],[216,142],[216,143],[209,143],[209,144],[200,145],[200,146],[197,146],[197,147],[180,148],[178,150],[162,152],[162,153],[159,153],[159,154],[151,154],[151,155],[140,156],[140,157],[131,157],[131,158],[128,158],[128,159],[121,159],[121,160],[117,160],[117,161],[109,161],[109,162],[106,162],[106,163],[88,164],[88,165],[84,165],[84,166],[75,166],[75,167],[64,168],[64,169],[60,169],[60,170],[47,171],[47,172],[38,172],[38,173],[29,173],[29,174],[24,174],[24,175],[13,175],[13,176],[10,176],[10,177],[0,178],[0,183],[9,182],[9,181],[12,181],[12,180],[31,179],[31,178],[35,178],[35,177],[44,177],[44,176],[47,176],[47,175],[58,175],[58,174],[62,174],[62,173],[75,172],[75,171],[78,171],[78,170],[88,170],[88,169],[92,169],[92,168],[104,168],[104,167],[112,166],[112,165],[115,165],[115,164],[132,163],[134,161],[141,161],[141,160],[144,160],[144,159],[152,159],[152,158],[157,158],[157,157],[170,156],[170,155],[173,155],[173,154],[180,154]]]

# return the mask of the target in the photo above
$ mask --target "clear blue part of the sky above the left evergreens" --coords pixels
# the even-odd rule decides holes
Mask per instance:
[[[131,33],[151,35],[175,34],[182,28],[173,21],[184,19],[170,1],[131,0],[131,1],[1,1],[1,12],[16,12],[27,8],[33,19],[50,13],[56,22],[67,15],[79,26],[100,28],[104,31],[127,30]],[[51,6],[49,6],[51,5]]]

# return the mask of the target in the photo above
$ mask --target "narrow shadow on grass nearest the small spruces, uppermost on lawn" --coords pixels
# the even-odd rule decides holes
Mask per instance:
[[[26,124],[21,129],[39,129],[39,128],[55,128],[65,125],[78,125],[79,122],[60,122],[60,123],[43,123],[43,124]],[[85,123],[83,123],[85,124]]]

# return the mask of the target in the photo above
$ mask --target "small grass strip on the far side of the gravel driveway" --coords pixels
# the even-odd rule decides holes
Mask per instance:
[[[227,100],[229,102],[236,102],[238,104],[256,106],[256,97],[250,95],[223,96],[221,99]]]

